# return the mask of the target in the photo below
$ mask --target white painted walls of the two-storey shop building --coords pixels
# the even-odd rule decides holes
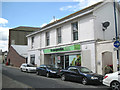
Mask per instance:
[[[61,33],[62,33],[62,43],[59,45],[65,45],[65,44],[72,44],[72,30],[71,30],[71,23],[78,21],[78,32],[79,32],[79,40],[78,42],[83,42],[83,41],[89,41],[89,40],[97,40],[97,39],[106,39],[106,40],[110,40],[113,37],[115,37],[115,31],[114,31],[114,20],[113,20],[113,5],[111,3],[105,4],[100,8],[96,8],[93,12],[93,14],[89,14],[89,15],[85,15],[82,16],[80,18],[74,19],[72,21],[66,22],[64,24],[61,24],[60,27],[61,28]],[[103,31],[102,31],[102,23],[105,21],[109,21],[110,22],[110,26],[108,27],[108,29],[105,31],[105,38],[103,35]],[[34,51],[28,51],[29,55],[32,54],[33,52],[37,54],[37,59],[40,53],[40,62],[37,61],[40,64],[44,64],[44,53],[43,50],[41,50],[41,52],[38,52],[35,49],[38,48],[49,48],[49,47],[54,47],[54,46],[59,46],[57,45],[57,33],[56,33],[56,28],[58,28],[59,26],[55,26],[51,29],[49,29],[50,31],[50,46],[46,47],[46,35],[45,32],[43,31],[41,33],[38,33],[35,35],[35,48],[32,49]],[[41,41],[41,42],[40,42]],[[76,42],[76,41],[75,41]],[[28,47],[29,50],[31,49],[31,38],[28,37]],[[91,68],[91,70],[93,72],[96,72],[96,60],[95,60],[95,44],[91,43],[91,44],[87,44],[84,43],[82,44],[82,51],[90,51],[90,59],[91,62],[89,65]],[[86,48],[87,47],[87,48]],[[98,48],[99,49],[99,48]],[[99,53],[99,52],[98,52]],[[28,57],[29,57],[28,55]],[[84,58],[84,57],[82,57]],[[100,59],[100,58],[99,58]],[[36,63],[37,63],[36,62]],[[85,64],[84,64],[85,65]],[[87,66],[87,65],[85,65]],[[101,67],[98,67],[101,68]],[[99,70],[99,69],[97,69]],[[98,73],[101,73],[100,70]]]

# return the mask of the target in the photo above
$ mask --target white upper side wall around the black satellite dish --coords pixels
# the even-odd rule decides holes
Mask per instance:
[[[95,39],[96,40],[113,39],[113,37],[115,37],[113,3],[109,2],[102,5],[100,8],[96,8],[93,15],[94,15],[94,27],[95,27]],[[110,26],[103,33],[102,23],[106,21],[110,22]]]

